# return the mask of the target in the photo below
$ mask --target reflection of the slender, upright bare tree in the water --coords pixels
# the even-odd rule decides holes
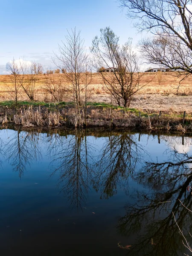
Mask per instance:
[[[74,135],[66,135],[59,140],[54,137],[50,151],[54,152],[52,175],[59,172],[58,187],[73,206],[82,209],[94,176],[94,147],[87,143],[86,130],[77,130]]]

